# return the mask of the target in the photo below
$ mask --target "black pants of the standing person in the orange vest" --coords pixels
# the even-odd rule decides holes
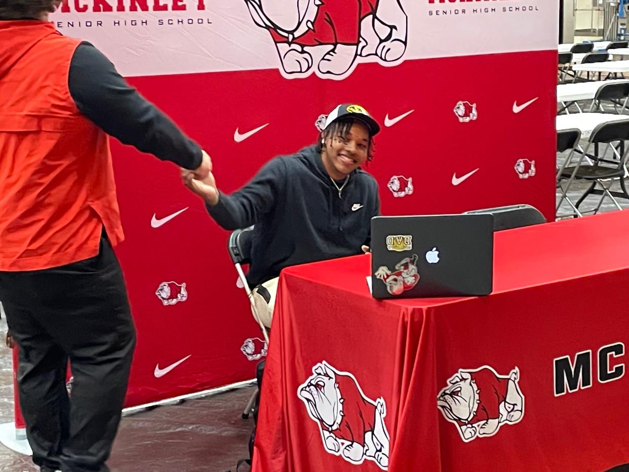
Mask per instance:
[[[85,261],[0,272],[0,300],[19,346],[19,402],[33,462],[42,471],[108,471],[135,347],[125,281],[108,240]]]

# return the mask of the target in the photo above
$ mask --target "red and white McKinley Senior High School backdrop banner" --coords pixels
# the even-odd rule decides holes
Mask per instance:
[[[382,213],[529,203],[552,219],[557,15],[542,0],[66,0],[52,21],[201,143],[222,191],[356,102],[383,125],[367,167]],[[174,166],[113,153],[138,328],[127,406],[252,378],[265,347],[227,232]]]

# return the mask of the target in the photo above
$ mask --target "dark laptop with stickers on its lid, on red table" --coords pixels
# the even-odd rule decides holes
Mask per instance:
[[[494,216],[374,216],[374,298],[489,295]]]

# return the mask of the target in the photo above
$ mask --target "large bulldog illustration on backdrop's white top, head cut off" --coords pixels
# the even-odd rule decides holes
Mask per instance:
[[[404,55],[407,16],[400,0],[245,0],[256,25],[269,30],[286,74],[323,78],[350,72],[357,57],[394,62]],[[316,54],[315,48],[325,53]]]

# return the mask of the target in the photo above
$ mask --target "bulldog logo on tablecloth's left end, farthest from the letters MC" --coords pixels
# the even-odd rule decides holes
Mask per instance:
[[[389,466],[389,432],[384,424],[386,404],[367,397],[353,374],[323,361],[297,389],[297,396],[315,420],[326,452],[352,464],[365,459],[379,468]]]

